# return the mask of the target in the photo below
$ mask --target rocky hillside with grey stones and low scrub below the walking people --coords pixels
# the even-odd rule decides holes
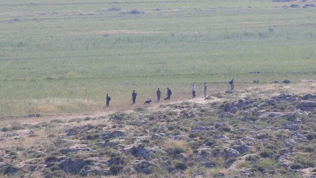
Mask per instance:
[[[3,127],[0,174],[316,178],[315,98],[281,94],[182,102],[158,110],[136,108],[107,117]],[[31,141],[36,144],[27,144]]]

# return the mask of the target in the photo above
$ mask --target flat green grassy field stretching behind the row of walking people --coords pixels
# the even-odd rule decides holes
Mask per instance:
[[[192,83],[225,91],[232,77],[315,79],[315,9],[282,5],[0,0],[0,115],[106,110],[106,93],[121,109],[132,89],[139,103],[158,87],[185,99]]]

